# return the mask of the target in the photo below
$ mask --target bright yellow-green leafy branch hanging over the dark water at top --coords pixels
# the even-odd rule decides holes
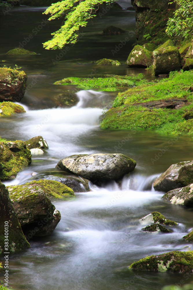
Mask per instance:
[[[53,38],[43,44],[46,49],[63,48],[68,43],[75,43],[78,38],[80,27],[87,25],[90,18],[96,16],[93,14],[98,9],[98,5],[109,4],[115,0],[64,0],[48,7],[44,14],[51,14],[48,20],[64,17],[64,25],[52,33]]]

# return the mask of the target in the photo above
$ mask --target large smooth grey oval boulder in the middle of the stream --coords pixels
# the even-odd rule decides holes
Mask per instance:
[[[89,180],[119,179],[135,169],[135,160],[119,153],[71,155],[61,159],[56,168],[81,175]]]

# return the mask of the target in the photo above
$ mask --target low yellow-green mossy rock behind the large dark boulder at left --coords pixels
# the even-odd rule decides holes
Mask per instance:
[[[51,200],[66,200],[75,196],[73,190],[70,187],[56,180],[34,180],[27,182],[24,185],[36,185],[40,187],[44,191],[45,195]]]

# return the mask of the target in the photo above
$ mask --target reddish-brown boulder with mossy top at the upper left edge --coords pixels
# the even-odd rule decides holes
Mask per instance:
[[[27,75],[24,71],[0,68],[0,102],[23,98]]]

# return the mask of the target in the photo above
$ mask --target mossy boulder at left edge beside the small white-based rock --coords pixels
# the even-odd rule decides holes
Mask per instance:
[[[23,141],[0,142],[0,179],[9,180],[32,162],[31,153]]]

